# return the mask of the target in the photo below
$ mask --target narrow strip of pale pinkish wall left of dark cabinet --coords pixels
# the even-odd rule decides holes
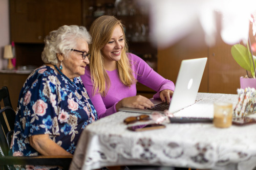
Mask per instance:
[[[9,2],[0,0],[0,69],[7,65],[7,60],[3,59],[3,56],[4,46],[10,44],[9,30]]]

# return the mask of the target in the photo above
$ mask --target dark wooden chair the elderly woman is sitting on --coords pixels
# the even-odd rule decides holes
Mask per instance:
[[[46,165],[69,169],[72,156],[8,156],[14,131],[15,111],[12,108],[7,87],[0,89],[0,169],[12,169],[12,165]]]

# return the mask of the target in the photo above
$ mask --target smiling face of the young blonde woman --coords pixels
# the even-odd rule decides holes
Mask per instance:
[[[115,69],[114,67],[116,67],[116,61],[121,59],[121,52],[123,50],[124,44],[125,42],[123,31],[122,28],[118,25],[114,29],[109,42],[102,48],[102,53],[105,58],[105,67],[111,66],[112,69]]]

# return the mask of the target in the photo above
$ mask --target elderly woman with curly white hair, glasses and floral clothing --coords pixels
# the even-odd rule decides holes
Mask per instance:
[[[84,27],[62,26],[45,39],[42,61],[19,94],[13,156],[71,155],[97,113],[79,76],[89,64],[91,36]]]

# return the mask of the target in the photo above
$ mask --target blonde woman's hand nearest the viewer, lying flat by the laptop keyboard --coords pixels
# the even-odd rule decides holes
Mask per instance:
[[[124,98],[116,104],[116,110],[121,107],[130,107],[138,109],[152,108],[154,104],[142,95],[136,95],[129,98]]]

